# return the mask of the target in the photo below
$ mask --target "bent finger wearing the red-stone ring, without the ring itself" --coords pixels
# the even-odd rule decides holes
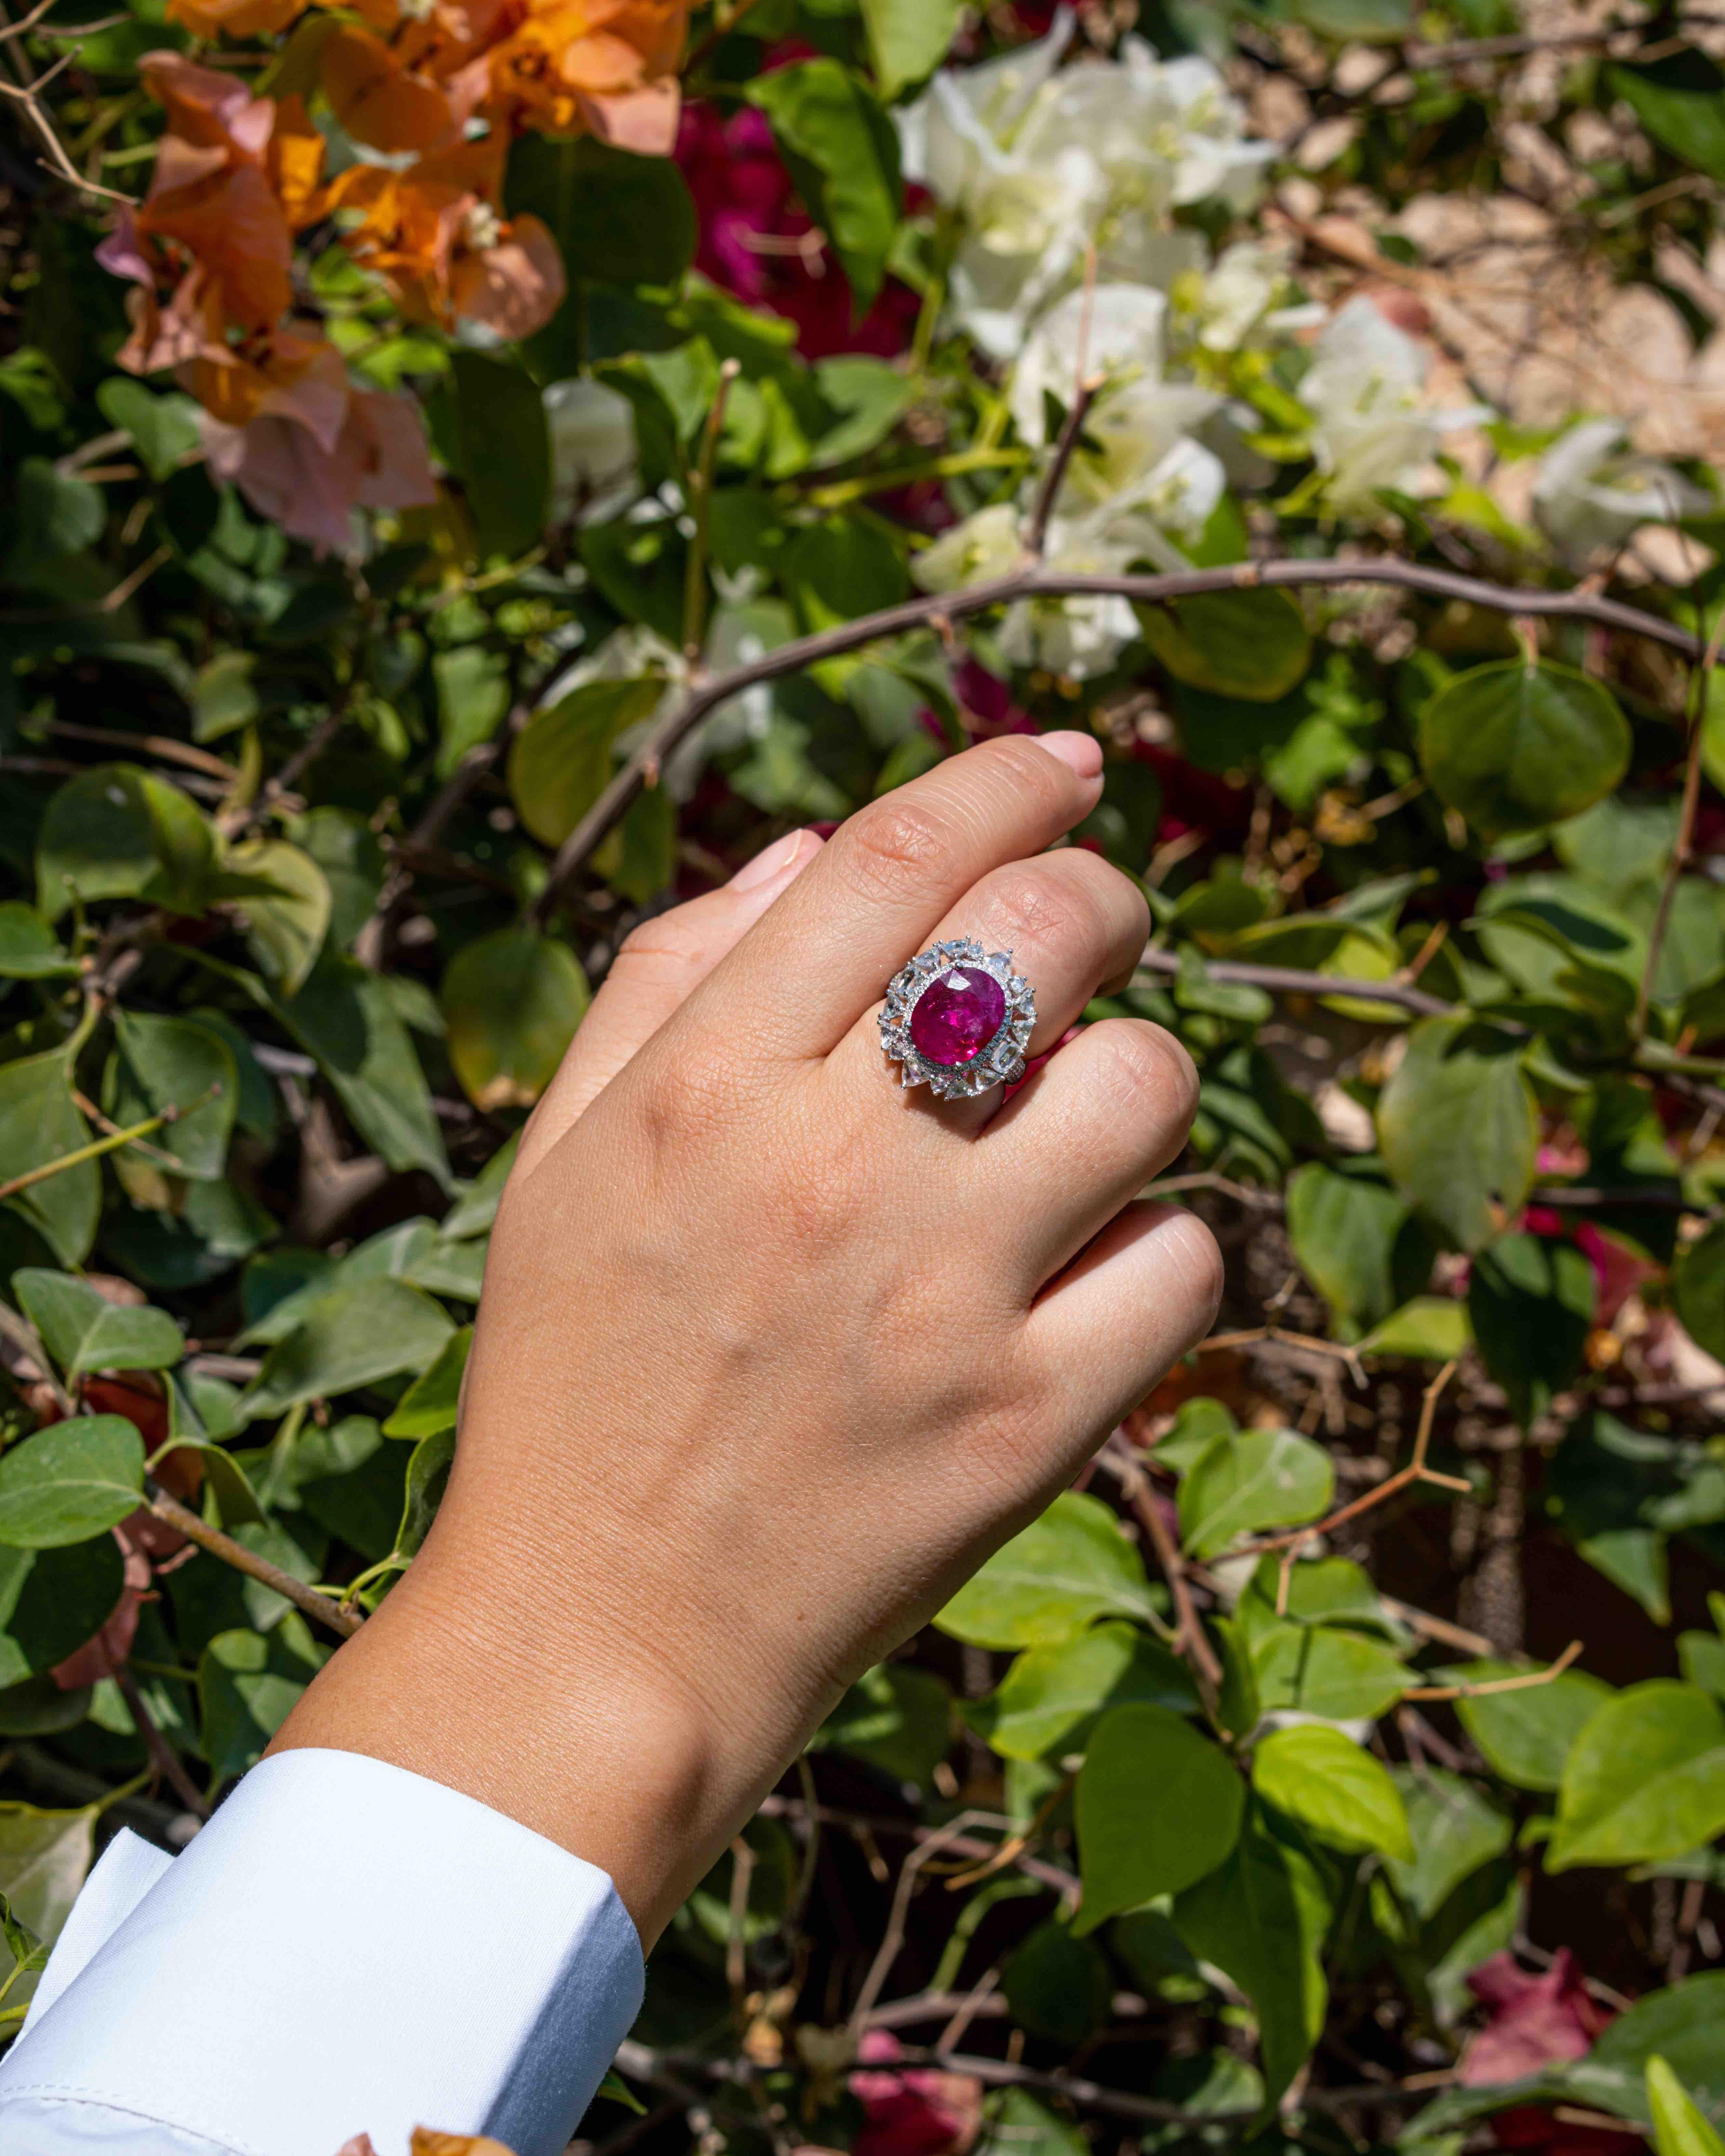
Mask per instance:
[[[1009,951],[1013,970],[1035,990],[1037,1018],[1024,1052],[1039,1056],[1091,996],[1132,975],[1149,936],[1149,908],[1119,869],[1082,847],[1065,847],[994,869],[947,914],[929,942],[962,936],[985,951]],[[875,1011],[856,1022],[834,1061],[860,1067],[875,1084],[895,1080],[893,1065],[882,1063]],[[977,1130],[1000,1106],[1000,1089],[938,1104],[916,1091],[906,1095],[906,1106],[927,1106],[942,1123]]]

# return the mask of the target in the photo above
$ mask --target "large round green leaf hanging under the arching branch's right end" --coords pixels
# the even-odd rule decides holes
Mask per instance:
[[[1611,690],[1570,666],[1475,666],[1419,718],[1419,761],[1438,798],[1488,839],[1542,830],[1615,791],[1630,724]]]

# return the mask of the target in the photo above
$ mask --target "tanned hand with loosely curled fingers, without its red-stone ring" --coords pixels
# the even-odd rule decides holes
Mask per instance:
[[[947,936],[1016,953],[1031,1054],[1132,972],[1141,893],[1044,852],[1100,768],[1078,733],[972,748],[630,938],[502,1199],[436,1529],[276,1749],[466,1789],[651,1945],[1203,1337],[1214,1242],[1134,1203],[1197,1100],[1171,1035],[1089,1026],[1003,1106],[901,1091],[875,1031]]]

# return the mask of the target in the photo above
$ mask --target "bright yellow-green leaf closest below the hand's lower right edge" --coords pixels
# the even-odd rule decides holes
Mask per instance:
[[[1143,1559],[1093,1496],[1065,1490],[934,1619],[975,1647],[1052,1647],[1095,1617],[1156,1608]]]

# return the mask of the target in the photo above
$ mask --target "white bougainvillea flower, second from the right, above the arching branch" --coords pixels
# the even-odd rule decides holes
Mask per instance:
[[[1378,487],[1417,487],[1445,433],[1490,418],[1488,405],[1427,407],[1427,369],[1425,347],[1371,300],[1350,300],[1328,319],[1300,401],[1333,509],[1369,509]]]

